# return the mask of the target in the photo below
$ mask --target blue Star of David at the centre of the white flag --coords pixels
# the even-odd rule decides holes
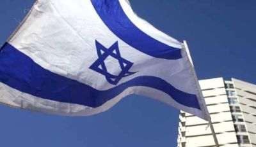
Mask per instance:
[[[130,76],[131,74],[136,73],[136,72],[129,71],[133,63],[121,57],[117,41],[109,48],[106,48],[105,46],[101,45],[97,40],[95,40],[95,44],[96,44],[96,49],[97,49],[97,54],[99,59],[97,59],[92,64],[92,66],[90,66],[90,69],[100,74],[103,74],[109,83],[116,85],[118,81],[120,81],[125,76]],[[104,60],[106,60],[107,57],[109,56],[118,60],[118,63],[121,69],[118,75],[114,75],[108,72],[108,69],[106,67]]]

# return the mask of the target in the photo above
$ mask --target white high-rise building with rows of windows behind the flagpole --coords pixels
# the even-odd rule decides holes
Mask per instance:
[[[256,85],[232,78],[200,80],[220,146],[256,147]],[[211,147],[207,122],[180,112],[178,147]]]

